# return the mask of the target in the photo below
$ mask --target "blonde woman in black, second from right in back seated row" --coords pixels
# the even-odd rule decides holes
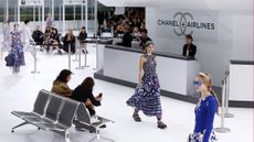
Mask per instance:
[[[76,39],[73,35],[73,30],[70,29],[63,40],[64,51],[68,53],[68,46],[71,45],[71,52],[74,54],[76,52],[75,42],[76,42]]]

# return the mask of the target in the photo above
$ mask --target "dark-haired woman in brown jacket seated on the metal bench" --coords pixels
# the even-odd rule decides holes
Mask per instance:
[[[67,83],[71,80],[71,75],[72,72],[68,69],[61,70],[56,79],[53,81],[51,91],[64,97],[71,97],[73,90],[70,89],[67,85]]]

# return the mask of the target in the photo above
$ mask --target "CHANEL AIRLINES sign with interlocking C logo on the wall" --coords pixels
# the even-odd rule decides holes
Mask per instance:
[[[157,10],[156,22],[160,37],[192,34],[195,40],[216,41],[216,12]]]

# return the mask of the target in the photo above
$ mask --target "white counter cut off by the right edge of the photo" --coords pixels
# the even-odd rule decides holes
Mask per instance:
[[[254,61],[231,61],[230,64],[230,101],[253,106]],[[250,106],[248,105],[248,106]]]

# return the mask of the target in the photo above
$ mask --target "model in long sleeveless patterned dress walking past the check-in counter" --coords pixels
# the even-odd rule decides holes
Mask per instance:
[[[139,84],[135,94],[127,100],[127,105],[135,108],[133,114],[135,121],[141,121],[138,114],[138,111],[141,110],[146,116],[156,116],[158,128],[165,129],[167,124],[161,121],[160,85],[156,74],[156,56],[152,51],[154,44],[146,43],[146,54],[141,55],[139,63]]]

